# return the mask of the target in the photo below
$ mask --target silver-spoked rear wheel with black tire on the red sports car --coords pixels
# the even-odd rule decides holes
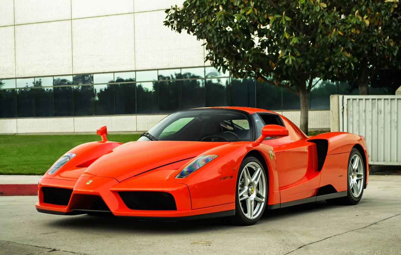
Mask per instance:
[[[330,205],[356,205],[363,195],[365,187],[365,163],[359,150],[353,148],[348,158],[347,196],[326,199]],[[350,183],[352,185],[350,185]]]

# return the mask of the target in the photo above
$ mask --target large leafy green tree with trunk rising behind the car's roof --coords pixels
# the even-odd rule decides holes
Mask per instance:
[[[166,26],[205,40],[205,61],[215,68],[298,95],[305,133],[313,80],[336,77],[356,61],[336,44],[341,16],[328,0],[187,0],[166,13]]]

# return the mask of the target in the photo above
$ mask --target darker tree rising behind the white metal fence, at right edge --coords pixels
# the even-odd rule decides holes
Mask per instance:
[[[381,70],[399,69],[401,58],[397,57],[401,44],[399,26],[399,0],[334,1],[342,15],[338,40],[344,52],[358,59],[346,70],[351,86],[359,88],[360,95],[368,94],[371,79]],[[384,84],[383,84],[384,85]]]

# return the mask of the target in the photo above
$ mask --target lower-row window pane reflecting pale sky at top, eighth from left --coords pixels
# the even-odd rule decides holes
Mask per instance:
[[[137,72],[138,75],[138,72]],[[158,113],[158,82],[142,82],[136,84],[136,109],[138,114]]]

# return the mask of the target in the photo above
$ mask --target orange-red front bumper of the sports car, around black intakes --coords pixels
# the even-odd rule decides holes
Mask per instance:
[[[43,187],[59,187],[72,189],[68,205],[45,203]],[[39,202],[35,204],[37,211],[58,215],[77,215],[89,213],[90,210],[74,210],[83,203],[82,195],[96,195],[103,199],[109,212],[115,216],[131,216],[140,219],[180,220],[223,217],[235,214],[235,203],[217,205],[201,209],[191,208],[191,197],[188,186],[182,183],[143,183],[138,181],[124,181],[119,183],[109,177],[80,177],[77,182],[61,179],[42,178],[38,186]],[[121,191],[162,191],[170,193],[176,203],[176,210],[133,210],[124,203],[118,192]],[[98,212],[98,211],[93,211]],[[105,211],[102,211],[105,212]]]

